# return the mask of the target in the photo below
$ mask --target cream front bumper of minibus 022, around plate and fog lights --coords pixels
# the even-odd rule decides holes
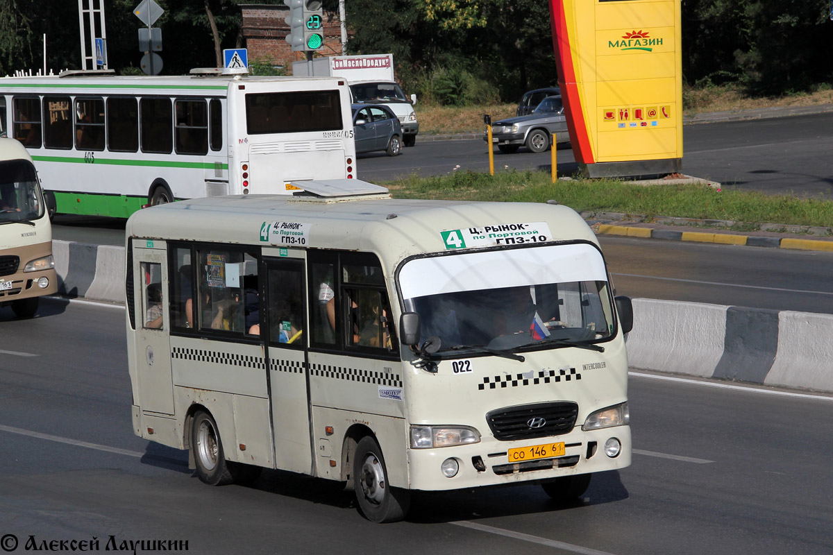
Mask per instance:
[[[615,458],[605,453],[605,442],[616,438],[621,452]],[[538,444],[564,442],[565,454],[558,458],[543,458],[524,463],[510,463],[507,450]],[[456,458],[460,470],[453,478],[446,478],[441,464],[446,458]],[[475,466],[482,463],[481,470]],[[546,438],[498,441],[483,436],[479,444],[456,447],[408,449],[409,486],[424,491],[476,488],[505,483],[558,478],[572,474],[604,472],[626,468],[631,464],[631,428],[613,428],[584,432],[577,427],[570,434]]]

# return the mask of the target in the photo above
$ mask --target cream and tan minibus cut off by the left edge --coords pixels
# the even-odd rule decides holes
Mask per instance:
[[[32,157],[0,138],[0,307],[29,318],[39,297],[56,291],[52,227]]]

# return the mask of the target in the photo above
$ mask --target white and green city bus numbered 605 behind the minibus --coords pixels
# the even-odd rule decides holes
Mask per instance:
[[[127,217],[357,175],[350,91],[335,77],[7,77],[0,134],[32,155],[51,214]]]

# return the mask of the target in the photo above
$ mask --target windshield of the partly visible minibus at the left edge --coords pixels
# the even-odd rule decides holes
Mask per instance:
[[[0,162],[0,224],[27,222],[43,216],[43,202],[32,163]]]

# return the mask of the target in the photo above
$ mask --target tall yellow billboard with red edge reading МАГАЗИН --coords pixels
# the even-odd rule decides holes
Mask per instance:
[[[681,0],[550,0],[558,85],[586,176],[682,168]]]

